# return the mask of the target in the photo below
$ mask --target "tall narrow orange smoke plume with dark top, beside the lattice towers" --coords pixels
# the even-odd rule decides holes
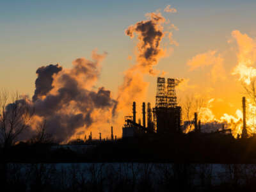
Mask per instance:
[[[145,99],[148,83],[143,80],[145,74],[156,76],[159,73],[153,67],[165,54],[161,47],[164,37],[165,18],[161,13],[147,13],[148,20],[142,20],[129,26],[125,34],[134,38],[137,35],[136,64],[124,74],[124,83],[118,88],[118,109],[130,106],[133,100]]]

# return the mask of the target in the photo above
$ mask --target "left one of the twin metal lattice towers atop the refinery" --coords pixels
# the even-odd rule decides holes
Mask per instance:
[[[166,108],[166,90],[164,77],[157,77],[156,108]]]

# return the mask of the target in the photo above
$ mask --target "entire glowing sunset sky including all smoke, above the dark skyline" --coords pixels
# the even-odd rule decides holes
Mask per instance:
[[[254,1],[110,2],[19,3],[8,12],[12,3],[0,5],[1,88],[18,90],[38,110],[32,131],[46,120],[65,143],[91,131],[106,138],[113,125],[120,138],[132,102],[141,118],[142,102],[155,105],[157,77],[170,77],[179,79],[180,106],[204,98],[198,119],[224,124],[235,138],[245,96],[248,134],[256,133],[246,90],[256,78]]]

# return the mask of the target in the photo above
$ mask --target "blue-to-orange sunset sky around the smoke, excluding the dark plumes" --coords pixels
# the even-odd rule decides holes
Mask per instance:
[[[164,12],[171,5],[177,12]],[[90,59],[93,50],[108,52],[95,88],[104,86],[118,97],[124,72],[136,63],[138,38],[125,35],[129,26],[147,20],[146,13],[161,12],[173,40],[161,42],[166,56],[156,69],[164,77],[185,79],[178,97],[201,95],[211,100],[216,118],[241,109],[243,86],[238,75],[237,46],[232,31],[256,37],[256,1],[0,1],[0,87],[33,96],[36,69],[60,63],[72,67],[77,58]],[[170,29],[170,24],[176,29]],[[169,28],[168,28],[169,25]],[[196,65],[196,56],[209,56]],[[130,58],[130,59],[128,59]],[[193,59],[194,58],[194,59]],[[197,58],[200,59],[200,58]],[[193,61],[194,64],[193,64]],[[190,63],[190,65],[189,65]],[[192,63],[192,64],[191,64]],[[213,67],[221,70],[213,71]],[[214,74],[213,74],[214,73]],[[145,102],[155,102],[156,77],[149,83]],[[213,99],[213,100],[212,100]],[[130,111],[131,112],[131,111]],[[125,112],[126,113],[126,112]]]

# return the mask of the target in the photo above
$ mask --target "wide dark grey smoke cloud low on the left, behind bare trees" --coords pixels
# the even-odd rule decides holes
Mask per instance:
[[[35,108],[31,124],[47,122],[47,132],[61,142],[92,125],[111,122],[116,100],[104,87],[93,90],[100,74],[100,61],[105,56],[94,51],[93,61],[79,58],[70,69],[60,65],[38,68],[35,95],[33,101],[27,101]]]

